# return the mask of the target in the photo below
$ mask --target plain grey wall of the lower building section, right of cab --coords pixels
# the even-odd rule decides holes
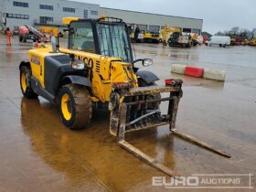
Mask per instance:
[[[203,19],[181,16],[164,16],[105,7],[100,8],[100,15],[123,18],[123,21],[126,23],[144,24],[148,26],[147,28],[149,28],[149,26],[163,27],[165,24],[168,24],[170,27],[191,28],[192,31],[193,29],[201,31],[203,27]]]

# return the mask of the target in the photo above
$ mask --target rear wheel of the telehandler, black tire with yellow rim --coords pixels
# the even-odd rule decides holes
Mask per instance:
[[[22,66],[20,69],[20,89],[24,97],[28,99],[35,99],[37,98],[37,94],[32,90],[31,87],[31,76],[32,71],[27,66]]]

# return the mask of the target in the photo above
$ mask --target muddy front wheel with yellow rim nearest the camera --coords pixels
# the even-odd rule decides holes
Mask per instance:
[[[67,109],[63,101],[64,97],[69,97],[69,101],[66,101]],[[80,130],[91,123],[91,96],[85,87],[73,84],[65,85],[59,90],[58,101],[61,120],[67,127],[72,130]],[[65,113],[67,110],[68,114]]]

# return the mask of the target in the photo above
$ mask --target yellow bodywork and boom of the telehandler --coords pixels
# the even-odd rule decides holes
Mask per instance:
[[[60,48],[61,52],[74,54],[75,59],[84,62],[92,69],[91,100],[110,101],[113,82],[131,82],[133,87],[138,87],[137,76],[133,72],[131,63],[124,63],[122,59],[109,58],[89,52]],[[51,53],[50,46],[29,50],[28,58],[31,64],[32,73],[39,80],[42,88],[44,82],[44,59],[47,56],[61,55],[62,53]],[[93,64],[93,66],[92,66]]]

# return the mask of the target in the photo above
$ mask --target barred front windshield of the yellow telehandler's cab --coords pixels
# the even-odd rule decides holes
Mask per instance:
[[[123,23],[98,23],[97,31],[101,55],[133,62],[132,49]]]

